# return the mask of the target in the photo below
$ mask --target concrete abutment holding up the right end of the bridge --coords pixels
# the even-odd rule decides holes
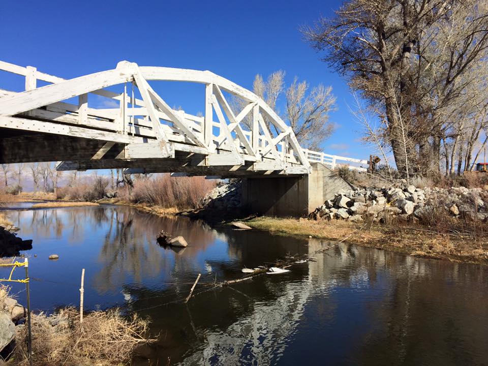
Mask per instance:
[[[351,189],[342,178],[320,163],[300,177],[242,180],[242,207],[248,214],[277,217],[307,216],[341,189]]]

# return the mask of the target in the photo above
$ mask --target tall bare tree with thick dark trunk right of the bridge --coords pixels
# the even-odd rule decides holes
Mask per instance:
[[[442,140],[459,136],[453,121],[479,103],[467,89],[485,89],[487,10],[482,0],[349,0],[302,32],[370,106],[381,107],[384,139],[407,175],[439,171]],[[466,158],[465,146],[456,150]]]

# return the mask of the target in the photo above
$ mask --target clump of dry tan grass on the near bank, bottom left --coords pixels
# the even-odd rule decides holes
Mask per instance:
[[[33,364],[113,365],[128,361],[137,345],[151,342],[145,339],[148,323],[134,315],[124,318],[118,310],[89,313],[79,322],[74,308],[47,317],[32,316]],[[14,359],[19,366],[28,365],[27,329],[17,332]]]

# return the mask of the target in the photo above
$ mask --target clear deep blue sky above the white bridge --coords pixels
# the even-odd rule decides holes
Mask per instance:
[[[287,83],[297,76],[311,87],[332,86],[338,110],[330,119],[338,128],[323,150],[366,159],[373,148],[358,142],[361,126],[348,111],[354,100],[345,79],[328,69],[298,32],[340,4],[3,0],[0,59],[64,78],[113,69],[126,59],[141,66],[210,70],[250,89],[257,73],[266,77],[282,69]],[[6,87],[10,80],[2,77],[0,87]],[[193,97],[202,94],[192,85],[157,91],[170,105],[190,113],[203,110]]]

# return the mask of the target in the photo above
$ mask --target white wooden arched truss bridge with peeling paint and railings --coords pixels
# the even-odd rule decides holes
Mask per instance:
[[[0,88],[7,73],[23,80],[15,91],[0,89],[0,163],[62,161],[58,170],[222,177],[303,175],[312,162],[368,166],[367,160],[302,149],[263,100],[209,71],[123,61],[113,70],[66,80],[0,62]],[[203,115],[171,108],[153,81],[202,84]],[[88,95],[117,107],[88,105]]]

